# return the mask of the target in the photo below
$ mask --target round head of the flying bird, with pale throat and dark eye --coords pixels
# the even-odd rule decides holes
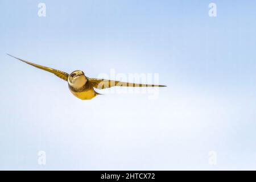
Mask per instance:
[[[87,78],[81,70],[73,71],[68,76],[68,84],[74,88],[81,88],[86,84],[86,82]]]

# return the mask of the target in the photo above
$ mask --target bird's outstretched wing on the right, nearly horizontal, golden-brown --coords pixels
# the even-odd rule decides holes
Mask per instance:
[[[134,84],[129,82],[105,80],[97,78],[87,78],[88,81],[97,89],[106,89],[112,86],[133,86],[133,87],[144,87],[144,86],[165,86],[165,85],[150,85],[150,84]]]

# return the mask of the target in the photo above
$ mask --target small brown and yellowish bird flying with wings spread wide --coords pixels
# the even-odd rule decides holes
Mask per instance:
[[[7,55],[9,55],[7,53]],[[150,85],[150,84],[135,84],[130,82],[122,82],[122,81],[115,81],[115,80],[106,80],[106,79],[98,79],[98,78],[89,78],[85,76],[84,72],[81,70],[73,71],[72,73],[68,74],[63,71],[59,71],[57,69],[44,67],[42,65],[34,64],[31,62],[28,62],[26,60],[20,59],[18,57],[9,55],[11,57],[14,57],[15,59],[18,59],[24,63],[27,63],[29,65],[32,65],[33,67],[43,69],[44,71],[53,73],[57,77],[65,80],[68,82],[68,88],[71,91],[71,93],[76,96],[77,98],[80,98],[81,100],[91,100],[92,98],[101,95],[100,93],[97,93],[94,88],[96,89],[106,89],[110,88],[112,86],[132,86],[132,87],[144,87],[144,86],[166,86],[166,85]]]

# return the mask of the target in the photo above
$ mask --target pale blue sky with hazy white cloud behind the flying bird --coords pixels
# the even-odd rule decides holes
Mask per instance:
[[[0,169],[256,169],[255,5],[1,0]],[[167,87],[82,101],[6,53],[88,77],[156,75],[141,81]]]

